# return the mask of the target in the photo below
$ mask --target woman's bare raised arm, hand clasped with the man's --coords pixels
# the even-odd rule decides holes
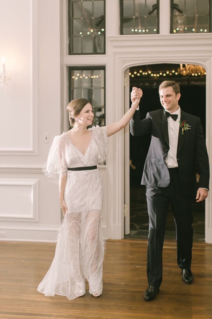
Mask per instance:
[[[107,125],[107,136],[108,137],[117,133],[121,129],[125,128],[127,126],[127,124],[129,123],[129,120],[131,119],[131,117],[135,113],[135,110],[139,105],[140,98],[142,97],[143,92],[141,89],[137,89],[136,87],[133,87],[133,91],[134,91],[133,99],[131,99],[132,100],[132,107],[125,113],[125,115],[120,119],[119,122],[115,122],[115,123]]]

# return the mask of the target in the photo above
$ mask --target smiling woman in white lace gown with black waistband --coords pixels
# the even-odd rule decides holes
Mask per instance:
[[[125,128],[138,107],[142,91],[119,122],[105,127],[92,124],[88,100],[72,100],[67,110],[73,127],[56,136],[44,174],[59,176],[59,201],[64,219],[51,267],[38,286],[45,296],[66,296],[69,300],[89,293],[102,293],[104,238],[100,226],[103,203],[102,181],[97,164],[106,160],[108,137]]]

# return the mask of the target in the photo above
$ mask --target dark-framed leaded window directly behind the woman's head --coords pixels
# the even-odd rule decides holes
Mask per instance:
[[[105,118],[105,67],[68,67],[69,101],[84,98],[93,108],[92,126],[106,125]]]

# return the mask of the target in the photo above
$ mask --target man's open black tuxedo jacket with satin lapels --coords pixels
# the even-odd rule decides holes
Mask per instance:
[[[196,170],[200,174],[199,187],[209,189],[209,159],[200,118],[185,113],[181,109],[181,122],[186,120],[191,128],[187,132],[179,123],[177,145],[177,163],[181,189],[189,197],[196,196]],[[178,120],[177,120],[178,121]],[[140,120],[140,112],[135,111],[130,120],[130,132],[133,136],[152,133],[151,144],[144,166],[142,185],[167,187],[170,182],[165,162],[169,150],[168,121],[163,109],[149,112]]]

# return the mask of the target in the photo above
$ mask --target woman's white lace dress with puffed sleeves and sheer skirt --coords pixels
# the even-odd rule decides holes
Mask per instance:
[[[44,173],[48,177],[67,175],[64,199],[68,208],[58,234],[51,267],[38,286],[46,296],[66,296],[69,300],[85,293],[102,293],[104,238],[100,226],[103,189],[98,169],[71,171],[68,167],[102,164],[107,154],[106,127],[92,127],[91,142],[83,155],[67,133],[56,136]]]

